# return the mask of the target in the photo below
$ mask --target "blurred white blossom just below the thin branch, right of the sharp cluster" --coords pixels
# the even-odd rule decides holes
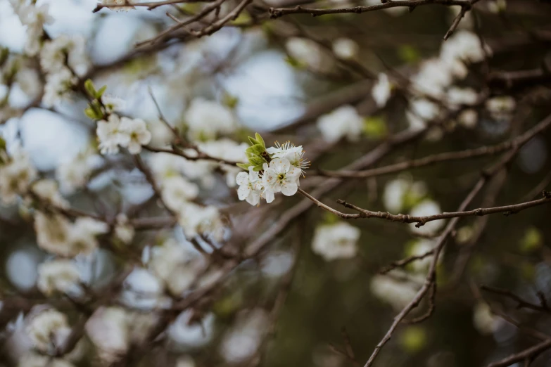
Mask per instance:
[[[339,221],[318,226],[312,240],[312,250],[326,261],[355,257],[360,229]]]

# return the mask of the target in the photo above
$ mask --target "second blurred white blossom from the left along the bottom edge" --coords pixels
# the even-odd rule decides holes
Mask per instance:
[[[86,323],[85,330],[106,363],[117,361],[129,348],[129,320],[120,307],[100,307]]]

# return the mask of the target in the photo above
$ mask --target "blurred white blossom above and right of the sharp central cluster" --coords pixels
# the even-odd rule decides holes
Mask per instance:
[[[343,105],[317,120],[317,128],[329,143],[336,143],[346,137],[357,141],[362,133],[363,119],[351,105]]]

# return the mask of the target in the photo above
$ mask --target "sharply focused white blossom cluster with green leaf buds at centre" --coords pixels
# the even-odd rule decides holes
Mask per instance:
[[[295,195],[300,185],[300,176],[310,165],[304,158],[303,147],[294,146],[288,141],[283,145],[276,143],[275,147],[266,148],[264,139],[258,133],[254,138],[250,136],[249,141],[251,146],[245,150],[249,162],[238,164],[248,170],[248,173],[239,172],[236,176],[239,200],[258,205],[260,198],[268,203],[274,201],[275,193]]]

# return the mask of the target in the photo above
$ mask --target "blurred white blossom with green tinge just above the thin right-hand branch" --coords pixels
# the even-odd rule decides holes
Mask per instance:
[[[405,207],[419,202],[426,195],[423,181],[413,181],[411,176],[400,176],[388,181],[384,188],[383,202],[387,210],[398,213]]]

